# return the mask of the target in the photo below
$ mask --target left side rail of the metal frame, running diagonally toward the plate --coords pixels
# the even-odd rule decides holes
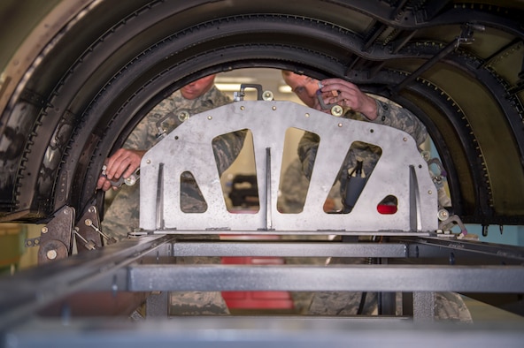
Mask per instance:
[[[126,266],[172,241],[173,237],[122,241],[3,279],[0,331],[78,291],[126,291]]]

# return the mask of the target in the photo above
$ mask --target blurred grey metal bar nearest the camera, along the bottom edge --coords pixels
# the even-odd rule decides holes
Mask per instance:
[[[38,329],[35,329],[38,328]],[[520,348],[522,325],[488,322],[413,324],[376,318],[176,318],[131,323],[118,320],[47,320],[28,322],[4,337],[9,348],[49,346],[92,348],[214,347],[476,347]]]

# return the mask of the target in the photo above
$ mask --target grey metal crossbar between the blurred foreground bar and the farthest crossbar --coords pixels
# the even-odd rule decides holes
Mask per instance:
[[[129,291],[524,292],[521,266],[131,265],[128,276]]]

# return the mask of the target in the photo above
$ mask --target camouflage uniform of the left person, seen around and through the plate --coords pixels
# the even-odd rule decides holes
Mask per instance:
[[[222,94],[216,87],[194,100],[182,97],[176,91],[150,111],[141,123],[127,138],[124,148],[148,150],[160,139],[158,134],[165,130],[173,131],[185,120],[184,113],[195,115],[206,110],[212,110],[231,102],[227,95]],[[180,116],[180,117],[179,117]],[[235,160],[243,147],[245,131],[228,133],[213,140],[213,149],[220,174]],[[206,208],[202,195],[196,183],[188,176],[182,178],[182,210],[185,212],[199,212]],[[112,237],[127,238],[127,233],[139,227],[140,209],[140,181],[132,186],[122,185],[112,204],[105,212],[102,228]],[[217,238],[216,236],[190,236],[191,238]],[[183,237],[182,237],[183,238]],[[176,263],[220,263],[220,258],[176,258]],[[191,291],[174,292],[171,295],[171,314],[228,314],[228,309],[220,292],[216,291]]]

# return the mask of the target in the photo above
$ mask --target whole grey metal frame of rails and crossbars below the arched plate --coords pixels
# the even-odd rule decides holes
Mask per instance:
[[[374,265],[181,265],[176,256],[374,257]],[[407,261],[396,264],[387,261]],[[473,265],[467,263],[474,262]],[[384,243],[191,241],[134,238],[0,279],[1,347],[319,346],[475,344],[521,346],[521,322],[433,322],[434,291],[524,292],[524,250],[439,238]],[[417,263],[417,264],[412,264]],[[131,322],[130,306],[166,308],[167,291],[412,292],[413,314],[374,317],[168,317]],[[100,299],[104,299],[101,301]],[[133,301],[131,301],[133,302]],[[80,304],[80,306],[79,306]],[[86,308],[89,308],[86,309]],[[118,310],[117,310],[118,309]],[[110,313],[108,313],[110,312]],[[115,317],[116,314],[120,316]],[[165,311],[165,314],[167,312]],[[122,316],[123,315],[123,316]],[[385,334],[383,336],[377,334]],[[436,341],[432,341],[435,338]]]

